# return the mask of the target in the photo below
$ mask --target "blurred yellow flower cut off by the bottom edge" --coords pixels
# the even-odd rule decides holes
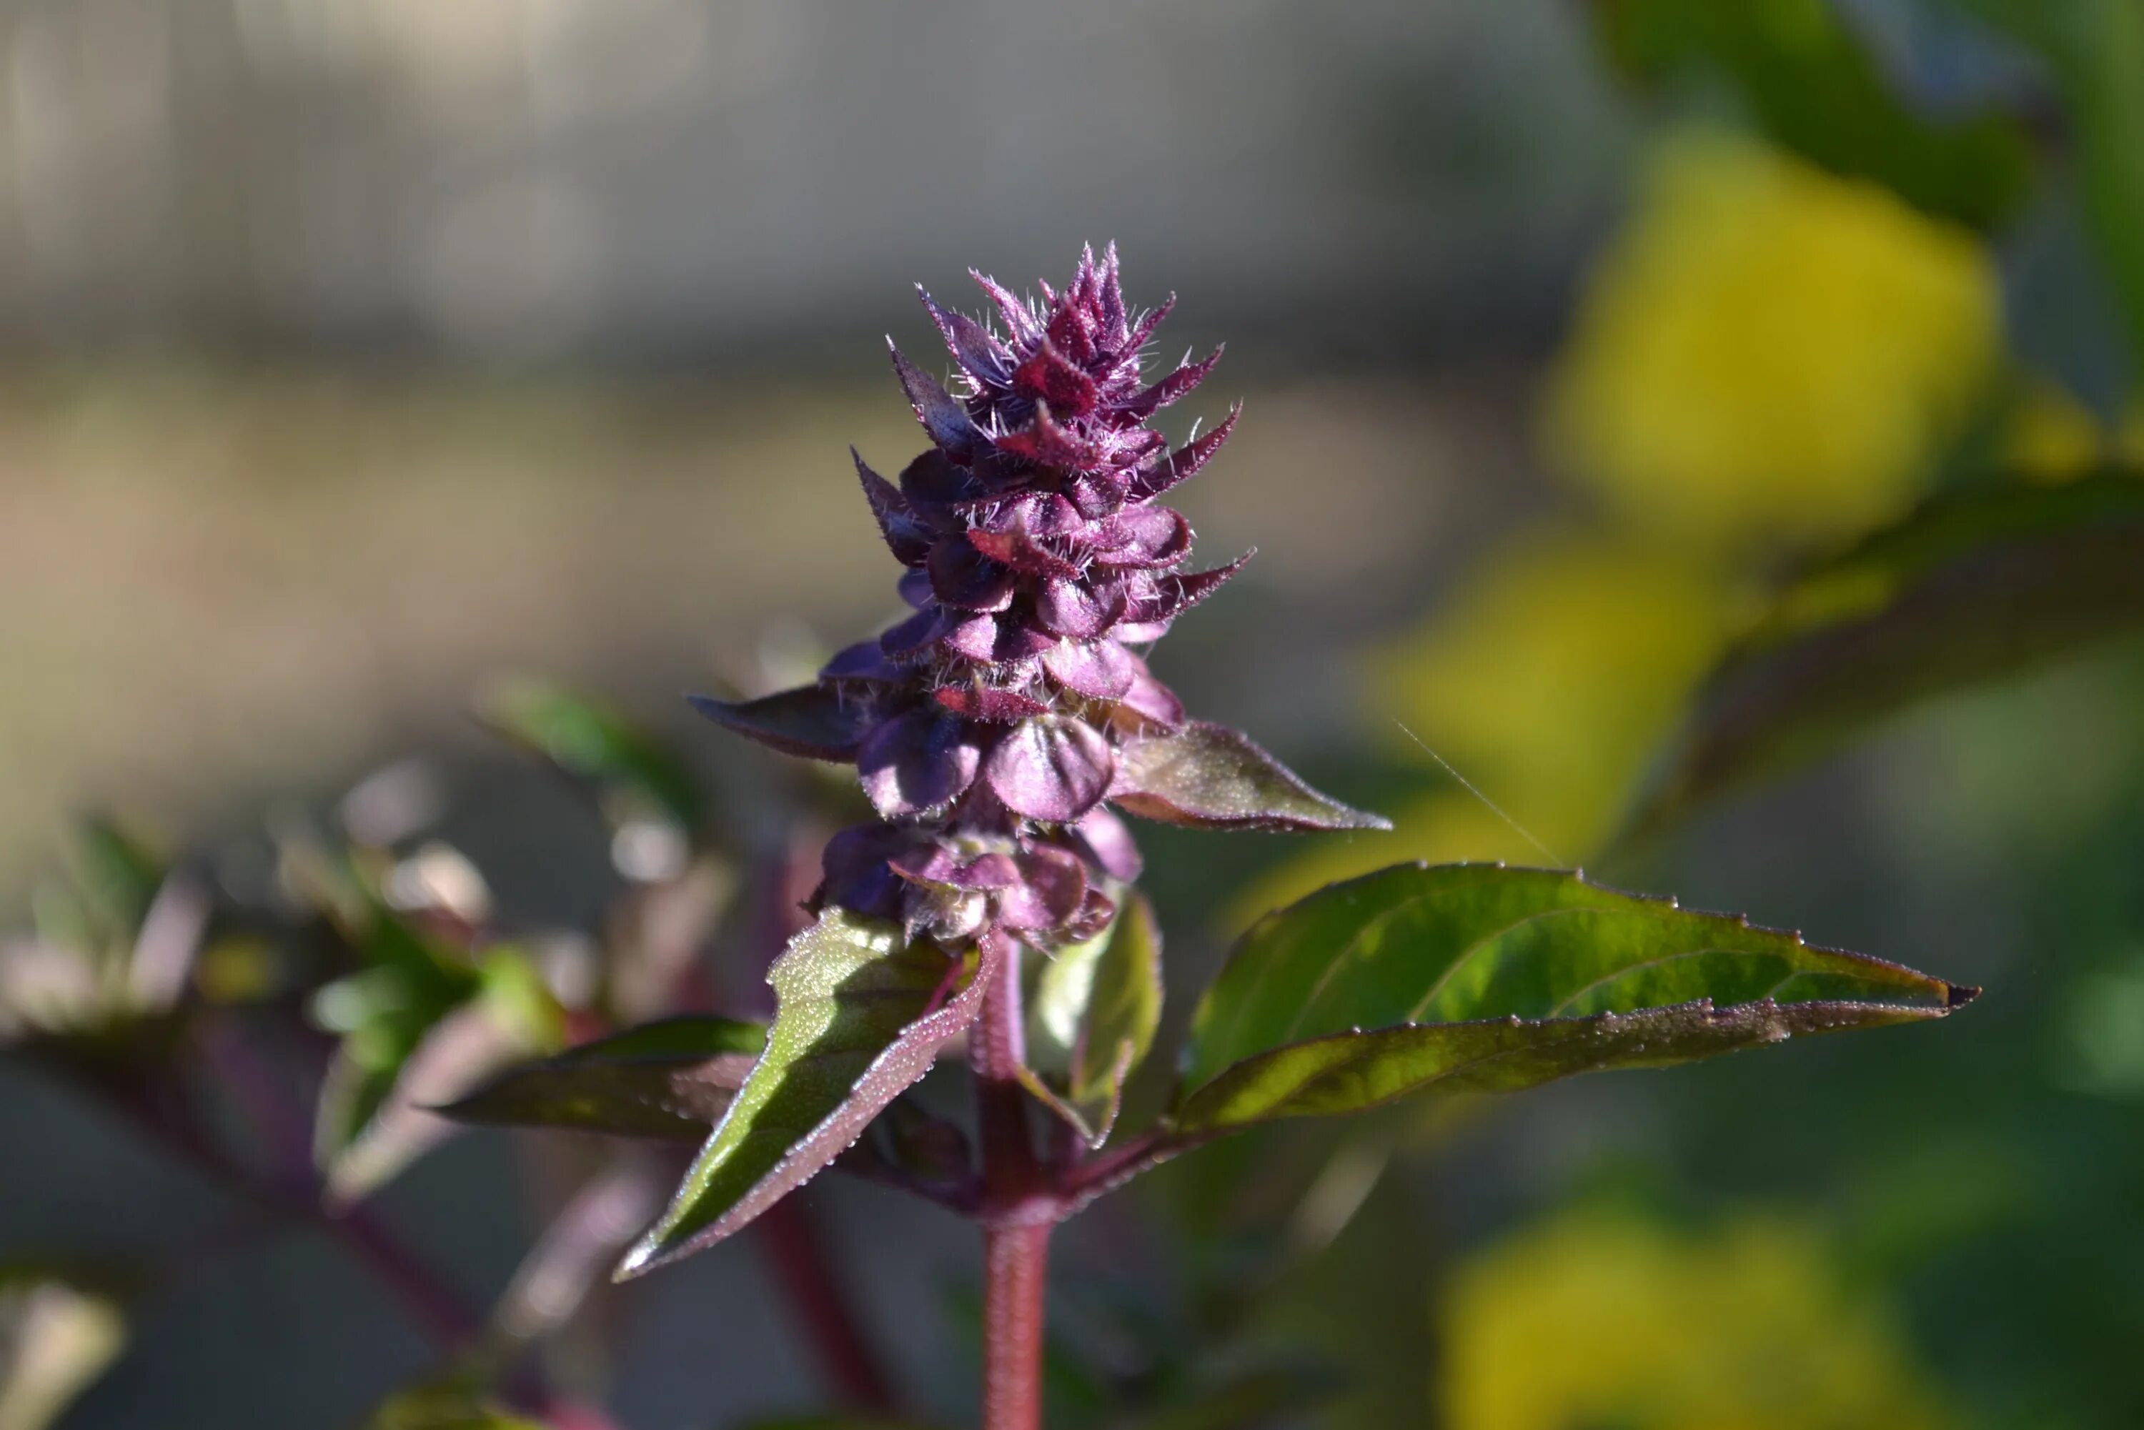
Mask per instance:
[[[1880,1306],[1812,1228],[1563,1213],[1462,1265],[1441,1308],[1454,1430],[1936,1430]]]

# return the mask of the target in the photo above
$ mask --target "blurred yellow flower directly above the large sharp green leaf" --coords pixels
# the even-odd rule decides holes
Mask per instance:
[[[1580,534],[1518,538],[1426,626],[1370,654],[1364,714],[1400,759],[1436,770],[1436,750],[1451,761],[1554,858],[1439,772],[1441,789],[1383,810],[1391,834],[1319,840],[1233,913],[1248,922],[1400,860],[1569,864],[1595,853],[1737,609],[1726,577],[1672,551]]]

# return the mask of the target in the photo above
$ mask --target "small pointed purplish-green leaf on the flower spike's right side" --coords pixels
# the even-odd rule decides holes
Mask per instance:
[[[1134,815],[1201,830],[1391,828],[1310,789],[1248,735],[1205,723],[1126,744],[1108,798]]]

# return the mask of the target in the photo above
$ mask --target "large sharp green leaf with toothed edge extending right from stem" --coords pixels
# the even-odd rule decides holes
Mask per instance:
[[[1175,1126],[1664,1068],[1940,1018],[1977,993],[1576,873],[1400,864],[1244,935],[1194,1016]]]

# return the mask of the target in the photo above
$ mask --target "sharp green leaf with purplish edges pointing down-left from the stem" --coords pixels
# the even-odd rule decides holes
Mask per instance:
[[[847,909],[791,939],[765,1053],[617,1276],[714,1246],[840,1156],[976,1021],[1001,958],[993,941],[963,984],[965,960]]]

